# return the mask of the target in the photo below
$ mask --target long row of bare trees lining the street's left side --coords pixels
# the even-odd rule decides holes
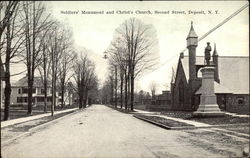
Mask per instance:
[[[95,65],[88,59],[86,52],[74,51],[71,29],[53,18],[44,2],[1,1],[0,8],[3,15],[0,51],[5,68],[4,120],[9,118],[10,78],[13,75],[10,67],[11,64],[20,62],[26,65],[23,72],[27,73],[28,78],[28,114],[32,113],[32,90],[36,72],[40,73],[43,82],[45,112],[48,87],[52,84],[53,115],[56,91],[62,94],[63,107],[64,93],[72,77],[76,83],[74,89],[79,96],[79,107],[86,106],[87,92],[97,85]]]

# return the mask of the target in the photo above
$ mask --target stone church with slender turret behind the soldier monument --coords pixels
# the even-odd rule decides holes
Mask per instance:
[[[219,56],[214,45],[211,60],[196,56],[198,36],[193,24],[186,38],[188,55],[180,54],[175,80],[171,81],[172,110],[195,111],[200,103],[201,72],[206,65],[213,66],[214,90],[222,111],[249,113],[249,57]],[[209,56],[210,58],[210,56]]]

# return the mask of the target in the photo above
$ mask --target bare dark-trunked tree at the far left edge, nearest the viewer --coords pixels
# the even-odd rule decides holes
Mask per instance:
[[[1,4],[2,3],[4,2],[1,2]],[[2,33],[5,33],[5,36],[4,38],[1,38],[1,48],[0,48],[0,49],[4,48],[3,54],[1,51],[1,61],[2,61],[2,55],[5,56],[4,120],[8,120],[9,118],[9,106],[10,106],[10,96],[11,96],[10,64],[20,62],[20,60],[17,57],[20,55],[20,52],[22,51],[22,44],[24,43],[23,31],[22,31],[23,28],[20,26],[21,19],[18,16],[18,14],[20,13],[19,10],[20,6],[18,4],[19,3],[9,2],[5,10],[4,19],[1,21],[1,27],[6,28],[6,30],[1,28],[1,31],[3,31],[1,32],[1,36]],[[11,11],[12,13],[8,13],[7,10]]]

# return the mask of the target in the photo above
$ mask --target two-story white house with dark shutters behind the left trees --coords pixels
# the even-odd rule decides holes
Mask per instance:
[[[11,104],[27,105],[28,104],[28,76],[24,76],[11,87]],[[33,105],[43,106],[44,105],[44,86],[41,77],[34,77],[33,84]],[[58,103],[58,93],[56,94],[56,105]],[[47,105],[52,104],[52,87],[51,82],[48,81],[47,88]]]

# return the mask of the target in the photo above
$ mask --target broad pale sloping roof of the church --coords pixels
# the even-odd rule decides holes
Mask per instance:
[[[189,79],[188,56],[181,58],[186,79]],[[249,94],[249,57],[218,56],[220,84],[215,85],[215,93]],[[204,65],[204,56],[196,56],[196,65]],[[198,72],[198,77],[200,72]],[[217,86],[217,88],[216,88]]]

